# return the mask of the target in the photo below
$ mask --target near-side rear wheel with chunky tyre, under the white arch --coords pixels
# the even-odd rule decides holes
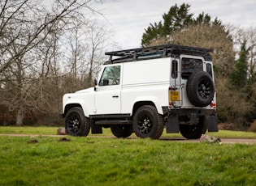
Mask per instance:
[[[132,120],[132,127],[137,137],[158,139],[163,133],[163,116],[151,105],[138,108]]]

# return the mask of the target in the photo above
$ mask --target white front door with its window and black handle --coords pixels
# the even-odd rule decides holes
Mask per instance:
[[[121,65],[106,66],[95,92],[94,114],[121,112]]]

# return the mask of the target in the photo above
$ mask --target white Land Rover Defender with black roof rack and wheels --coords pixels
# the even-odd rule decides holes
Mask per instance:
[[[174,44],[106,53],[95,86],[63,95],[66,133],[87,136],[111,128],[115,137],[196,139],[217,132],[211,49]]]

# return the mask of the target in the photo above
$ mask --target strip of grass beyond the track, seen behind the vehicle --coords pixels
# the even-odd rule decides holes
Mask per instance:
[[[1,133],[22,133],[22,134],[51,134],[54,135],[57,133],[57,127],[15,127],[15,126],[0,126],[0,134]],[[243,132],[243,131],[230,131],[230,130],[220,130],[218,133],[208,133],[209,135],[221,138],[256,138],[256,133],[252,132]],[[89,134],[91,136],[92,134]],[[103,129],[102,134],[93,134],[93,136],[113,136],[110,129]],[[132,134],[135,137],[134,134]],[[162,137],[182,137],[180,133],[166,133],[163,131]]]

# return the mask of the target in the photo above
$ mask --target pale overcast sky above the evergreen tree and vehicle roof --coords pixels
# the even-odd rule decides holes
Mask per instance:
[[[256,28],[255,0],[104,0],[93,8],[105,15],[106,19],[100,18],[100,21],[115,31],[119,47],[132,49],[141,47],[142,34],[150,23],[163,20],[162,15],[171,6],[180,6],[183,2],[190,5],[189,13],[196,17],[205,12],[223,23]]]

